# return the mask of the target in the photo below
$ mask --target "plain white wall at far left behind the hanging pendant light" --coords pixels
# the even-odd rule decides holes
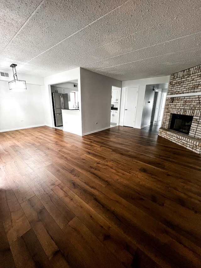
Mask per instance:
[[[22,92],[9,90],[8,81],[0,81],[1,132],[45,124],[41,86],[28,83],[34,83],[34,79],[29,80],[26,76],[20,78],[26,79],[27,83],[27,90]]]

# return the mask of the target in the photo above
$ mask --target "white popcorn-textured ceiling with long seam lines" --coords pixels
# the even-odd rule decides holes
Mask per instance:
[[[1,0],[0,66],[43,77],[77,67],[119,80],[169,75],[201,63],[200,6]]]

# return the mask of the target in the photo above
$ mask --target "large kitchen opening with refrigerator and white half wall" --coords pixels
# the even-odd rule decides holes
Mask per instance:
[[[76,128],[76,119],[80,118],[78,81],[51,85],[51,95],[55,128],[69,131],[70,127],[72,132],[72,125]]]

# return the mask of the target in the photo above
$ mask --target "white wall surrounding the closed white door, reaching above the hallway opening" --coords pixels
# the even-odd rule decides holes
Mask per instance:
[[[153,78],[146,78],[146,79],[123,81],[122,82],[121,103],[120,103],[119,124],[121,126],[123,126],[126,87],[139,86],[137,111],[136,111],[136,118],[135,118],[135,126],[134,127],[137,129],[140,129],[141,128],[141,121],[142,121],[142,112],[143,112],[143,104],[144,104],[144,95],[145,95],[146,85],[169,83],[169,78],[170,78],[169,76],[162,76],[162,77],[153,77]]]

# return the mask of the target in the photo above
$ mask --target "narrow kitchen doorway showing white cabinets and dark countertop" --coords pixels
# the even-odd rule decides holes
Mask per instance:
[[[121,98],[121,88],[112,86],[111,91],[111,112],[110,112],[110,127],[119,125],[119,107]]]

